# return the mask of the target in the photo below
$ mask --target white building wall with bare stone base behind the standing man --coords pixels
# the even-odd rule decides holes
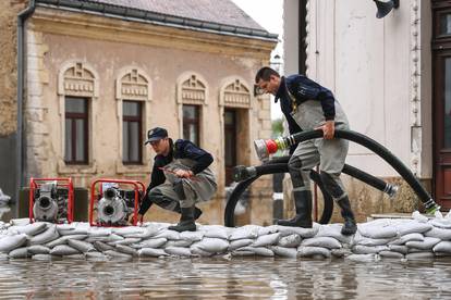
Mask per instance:
[[[294,10],[296,2],[285,0],[285,10]],[[353,130],[383,145],[430,188],[430,4],[419,0],[400,2],[399,9],[379,20],[373,1],[308,1],[307,75],[334,92]],[[287,21],[284,36],[295,34],[292,23],[291,18]],[[287,47],[293,49],[293,45]],[[285,53],[285,60],[293,57],[297,53]],[[399,180],[393,168],[358,145],[351,143],[346,163]],[[361,216],[410,212],[418,207],[405,184],[393,200],[399,204],[383,205],[381,192],[346,177],[345,183]]]

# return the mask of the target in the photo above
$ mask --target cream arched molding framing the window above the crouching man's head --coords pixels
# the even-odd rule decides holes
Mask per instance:
[[[176,80],[179,137],[183,138],[183,104],[200,105],[199,147],[204,145],[205,113],[208,105],[207,80],[196,72],[185,72]]]

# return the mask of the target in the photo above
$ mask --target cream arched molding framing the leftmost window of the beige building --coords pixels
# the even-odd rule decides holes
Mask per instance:
[[[64,145],[65,145],[65,97],[84,97],[88,99],[88,164],[71,165],[64,162]],[[59,118],[61,128],[61,142],[58,151],[58,172],[60,174],[82,173],[94,174],[97,172],[96,164],[96,128],[93,116],[97,114],[97,99],[99,96],[99,75],[95,68],[87,62],[82,60],[71,60],[64,62],[58,74],[58,98],[59,98]]]

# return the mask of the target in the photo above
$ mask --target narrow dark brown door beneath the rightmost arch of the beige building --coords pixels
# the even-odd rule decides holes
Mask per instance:
[[[232,109],[224,110],[224,139],[226,186],[229,186],[236,165],[236,111]]]

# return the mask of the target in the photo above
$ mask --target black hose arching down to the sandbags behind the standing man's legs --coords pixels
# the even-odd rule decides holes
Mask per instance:
[[[271,163],[271,164],[264,164],[256,166],[257,175],[253,176],[244,182],[241,182],[236,185],[236,187],[233,189],[232,193],[230,195],[226,211],[224,211],[224,225],[228,227],[234,227],[235,226],[235,207],[237,201],[240,200],[241,195],[247,189],[248,186],[252,185],[256,179],[258,179],[263,175],[267,174],[277,174],[277,173],[287,173],[288,172],[288,165],[287,163]],[[320,224],[327,224],[329,223],[332,212],[333,212],[333,199],[332,197],[326,191],[322,182],[319,177],[319,174],[312,170],[310,172],[310,178],[314,180],[319,189],[322,192],[322,199],[324,199],[324,210],[320,220],[318,223]]]

